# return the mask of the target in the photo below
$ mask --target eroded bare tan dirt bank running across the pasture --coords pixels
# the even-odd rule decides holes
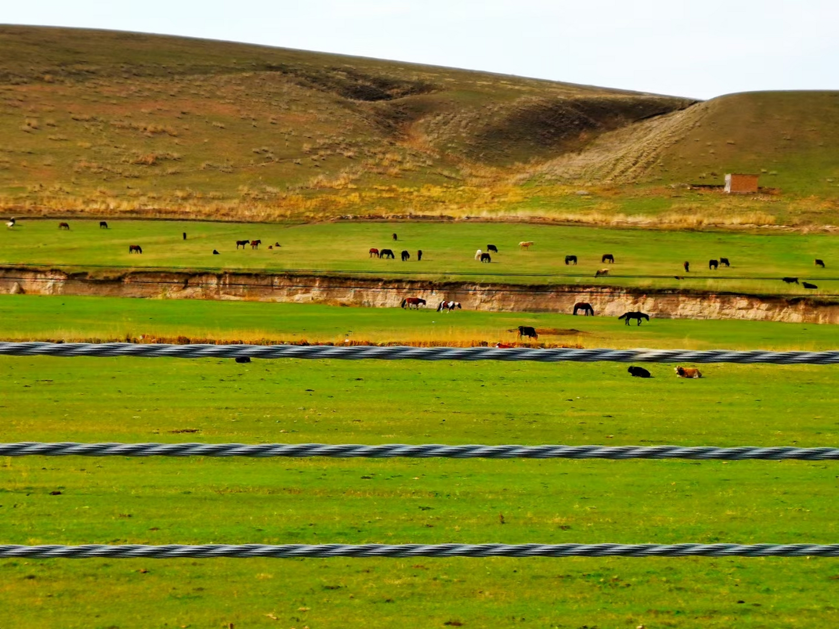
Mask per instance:
[[[839,323],[839,302],[814,298],[706,293],[674,289],[625,289],[584,285],[520,286],[500,283],[435,283],[420,280],[332,278],[259,273],[65,273],[0,268],[0,294],[91,295],[151,299],[250,299],[292,303],[397,307],[421,297],[429,307],[443,299],[465,309],[502,312],[567,312],[590,303],[598,315],[642,310],[664,319],[749,319]]]

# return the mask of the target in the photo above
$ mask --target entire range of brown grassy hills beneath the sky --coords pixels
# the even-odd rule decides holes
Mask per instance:
[[[531,200],[591,209],[569,186],[630,198],[638,186],[722,183],[732,169],[831,199],[837,94],[699,103],[249,44],[2,26],[0,205],[239,220],[516,205],[539,214]]]

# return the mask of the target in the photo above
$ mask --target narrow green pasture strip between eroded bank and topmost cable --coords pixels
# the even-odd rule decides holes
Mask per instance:
[[[119,299],[0,295],[0,340],[154,340],[463,345],[516,342],[519,325],[542,330],[539,343],[670,349],[836,349],[832,325],[748,320],[653,319],[433,308],[346,308],[198,299]],[[180,337],[180,340],[179,340]]]

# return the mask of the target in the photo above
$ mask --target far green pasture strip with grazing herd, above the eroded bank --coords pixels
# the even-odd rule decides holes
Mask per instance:
[[[183,268],[230,270],[316,270],[362,277],[435,278],[499,283],[580,283],[649,288],[680,288],[751,294],[834,294],[839,275],[839,240],[824,234],[746,233],[730,231],[644,231],[528,223],[325,222],[225,223],[196,221],[22,220],[0,231],[0,263],[50,267]],[[187,233],[183,240],[181,234]],[[399,240],[394,242],[391,234]],[[237,240],[262,240],[258,250],[236,247]],[[519,242],[533,241],[529,250]],[[279,242],[281,247],[268,249]],[[143,254],[129,254],[128,245]],[[474,259],[477,249],[498,247],[492,263]],[[390,248],[395,260],[369,257],[371,247]],[[221,255],[212,255],[213,249]],[[401,262],[399,253],[411,259]],[[416,253],[422,250],[421,262]],[[616,263],[601,263],[612,253]],[[576,266],[565,265],[576,255]],[[731,268],[708,270],[711,258],[728,257]],[[814,258],[826,262],[816,268]],[[682,263],[691,264],[685,273]],[[595,278],[599,268],[610,276]],[[662,276],[662,277],[656,277]],[[676,279],[680,276],[683,279]],[[779,278],[792,276],[816,283],[805,291]]]

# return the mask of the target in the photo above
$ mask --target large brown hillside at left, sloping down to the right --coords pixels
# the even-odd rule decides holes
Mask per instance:
[[[289,194],[498,182],[517,162],[691,102],[248,44],[4,26],[0,195],[7,205],[189,211],[208,200],[282,205]]]

